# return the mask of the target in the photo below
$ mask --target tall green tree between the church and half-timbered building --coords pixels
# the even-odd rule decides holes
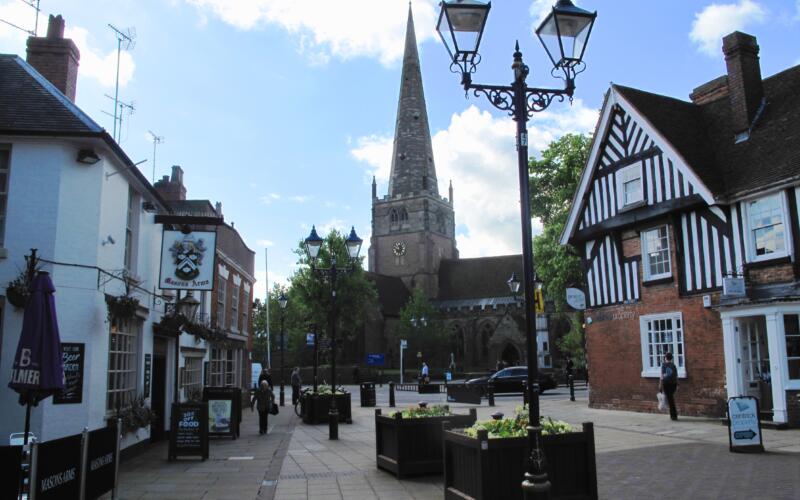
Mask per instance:
[[[554,321],[564,319],[568,311],[566,289],[583,282],[578,255],[560,243],[581,173],[589,158],[591,137],[567,134],[550,143],[542,158],[529,163],[531,216],[544,226],[533,240],[536,275],[544,283],[544,294],[551,298],[556,313]],[[585,360],[582,315],[569,317],[568,333],[558,340],[562,352],[570,354],[577,366]]]

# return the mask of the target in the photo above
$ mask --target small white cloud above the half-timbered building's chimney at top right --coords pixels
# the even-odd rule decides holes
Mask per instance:
[[[689,38],[700,52],[719,57],[722,37],[748,25],[760,24],[766,20],[767,10],[753,0],[740,0],[738,3],[712,3],[695,14]]]

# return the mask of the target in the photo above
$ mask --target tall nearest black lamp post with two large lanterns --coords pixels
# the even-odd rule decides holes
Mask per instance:
[[[486,96],[491,104],[506,111],[517,123],[517,160],[519,170],[520,212],[522,216],[523,283],[525,287],[525,331],[528,357],[528,439],[531,456],[525,472],[522,489],[526,498],[547,498],[550,481],[545,468],[539,422],[539,394],[535,384],[539,372],[536,342],[536,312],[534,310],[534,265],[531,239],[531,211],[528,186],[528,119],[534,113],[544,111],[554,99],[572,100],[575,77],[585,68],[583,54],[592,32],[596,12],[575,7],[570,0],[558,0],[552,11],[536,29],[547,55],[553,63],[551,73],[564,80],[562,89],[528,87],[526,79],[530,73],[522,61],[517,42],[514,50],[514,81],[511,85],[480,85],[472,83],[472,74],[480,63],[478,47],[486,26],[491,2],[477,0],[444,0],[436,30],[451,56],[451,71],[461,73],[464,90],[473,91],[476,97]]]

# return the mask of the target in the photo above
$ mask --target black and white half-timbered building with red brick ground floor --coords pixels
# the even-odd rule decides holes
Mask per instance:
[[[680,412],[752,395],[800,425],[800,66],[762,80],[740,32],[723,52],[691,102],[606,95],[562,235],[585,270],[590,404],[654,411],[672,352]]]

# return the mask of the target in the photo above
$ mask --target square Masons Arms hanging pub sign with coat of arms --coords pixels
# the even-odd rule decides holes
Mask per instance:
[[[213,290],[217,233],[164,230],[161,241],[162,290]]]

